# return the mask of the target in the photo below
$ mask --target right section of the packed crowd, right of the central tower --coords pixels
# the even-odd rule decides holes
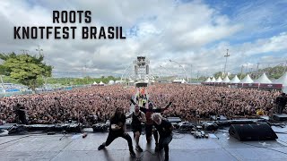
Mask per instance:
[[[169,97],[174,102],[165,117],[179,116],[186,121],[224,115],[228,119],[254,117],[257,111],[265,115],[276,113],[275,99],[280,91],[259,89],[231,89],[227,87],[196,86],[183,84],[159,84],[151,86],[150,97],[154,104],[164,106]],[[166,100],[166,101],[162,101]],[[286,113],[284,110],[283,113]]]

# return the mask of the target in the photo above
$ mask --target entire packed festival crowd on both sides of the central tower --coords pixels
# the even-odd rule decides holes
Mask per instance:
[[[172,105],[162,112],[164,117],[178,116],[185,121],[222,114],[227,118],[252,117],[257,111],[274,114],[274,100],[280,91],[231,89],[188,84],[157,83],[145,89],[155,107]],[[135,87],[123,85],[96,86],[68,91],[0,98],[0,120],[16,123],[15,106],[20,104],[28,123],[63,123],[68,120],[93,124],[109,120],[117,107],[130,110]],[[147,104],[143,104],[147,105]],[[286,113],[283,110],[283,113]]]

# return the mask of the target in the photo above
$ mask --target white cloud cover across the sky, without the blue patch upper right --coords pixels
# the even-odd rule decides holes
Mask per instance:
[[[91,10],[92,23],[88,25],[123,26],[130,31],[130,35],[125,40],[13,39],[15,25],[56,26],[52,23],[53,10]],[[242,11],[247,9],[242,8]],[[237,20],[258,20],[256,17],[248,18],[253,14],[242,15]],[[136,55],[148,56],[153,68],[164,64],[170,70],[175,68],[180,71],[176,64],[166,62],[172,59],[185,64],[187,69],[190,68],[189,64],[193,64],[194,73],[217,72],[222,70],[226,48],[230,49],[231,55],[228,67],[233,69],[246,64],[249,56],[286,51],[287,44],[287,35],[283,32],[270,38],[232,45],[226,41],[227,38],[249,29],[242,21],[236,23],[228,15],[222,15],[201,1],[178,4],[172,0],[14,0],[2,2],[0,19],[0,52],[19,53],[22,49],[28,49],[30,53],[37,54],[35,49],[40,45],[44,49],[45,62],[55,67],[57,76],[66,75],[67,72],[72,76],[81,76],[84,66],[91,76],[121,75]],[[256,24],[253,26],[260,28],[258,25],[261,23]]]

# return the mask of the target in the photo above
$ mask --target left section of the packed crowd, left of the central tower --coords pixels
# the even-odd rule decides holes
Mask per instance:
[[[96,86],[0,99],[0,120],[16,123],[14,108],[24,106],[29,123],[105,122],[116,106],[129,108],[133,89],[123,86]]]

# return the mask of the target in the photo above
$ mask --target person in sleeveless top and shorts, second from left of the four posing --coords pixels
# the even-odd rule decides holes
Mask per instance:
[[[146,121],[145,114],[140,111],[140,107],[138,105],[135,105],[135,112],[127,116],[127,118],[130,117],[133,119],[131,125],[135,136],[135,149],[139,152],[143,152],[143,148],[139,146],[138,142],[142,133],[142,123],[145,123]]]

